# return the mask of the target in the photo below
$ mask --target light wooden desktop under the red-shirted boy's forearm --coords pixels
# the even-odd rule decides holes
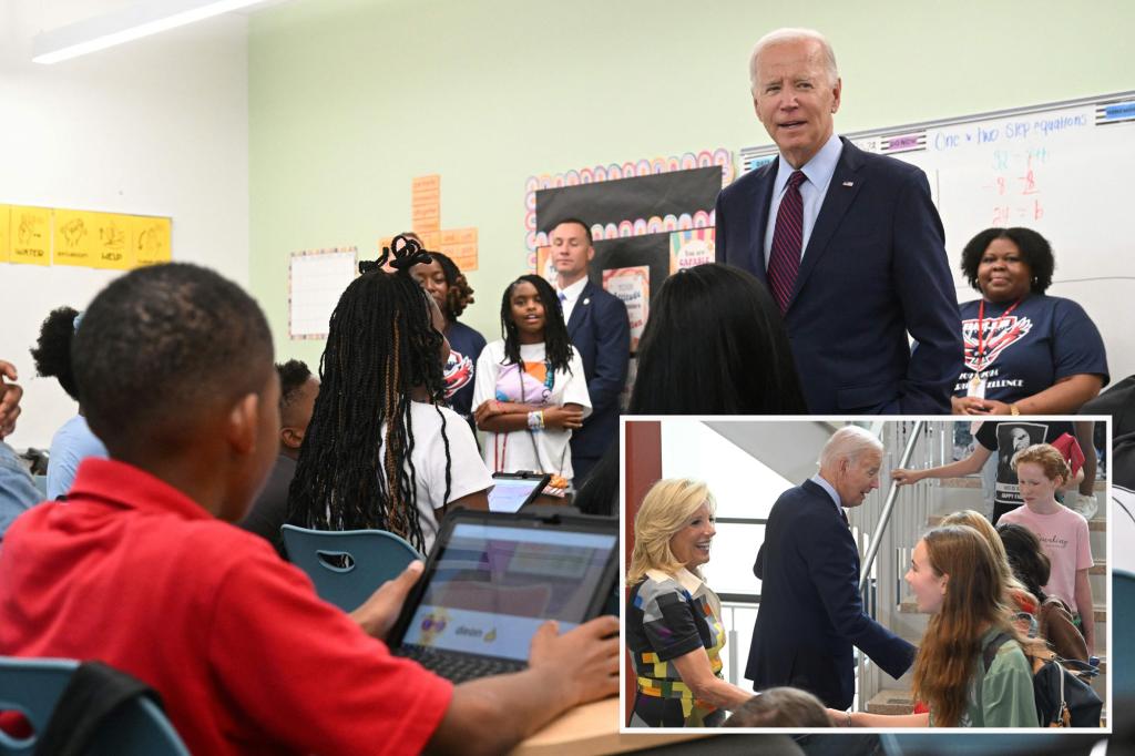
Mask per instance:
[[[605,698],[577,706],[516,746],[511,754],[512,756],[622,754],[706,737],[704,731],[690,734],[649,732],[620,734],[619,716],[619,698]]]

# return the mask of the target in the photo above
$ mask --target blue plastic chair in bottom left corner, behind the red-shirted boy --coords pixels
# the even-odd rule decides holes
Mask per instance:
[[[0,711],[18,711],[42,732],[78,662],[65,658],[0,656]],[[17,739],[0,731],[0,756],[31,756],[37,738]],[[107,717],[87,751],[94,756],[190,756],[166,714],[137,698]]]

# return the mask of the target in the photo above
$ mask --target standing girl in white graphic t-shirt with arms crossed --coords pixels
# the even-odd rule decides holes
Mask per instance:
[[[591,411],[583,362],[568,339],[560,300],[539,276],[521,276],[501,301],[504,339],[477,361],[473,406],[496,472],[573,476],[571,431]]]

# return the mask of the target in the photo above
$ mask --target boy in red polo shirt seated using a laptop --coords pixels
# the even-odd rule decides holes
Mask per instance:
[[[453,687],[380,638],[421,564],[352,614],[229,524],[277,454],[263,313],[188,264],[112,282],[76,335],[81,398],[110,460],[0,549],[0,654],[99,658],[155,688],[194,754],[501,753],[617,690],[617,631],[545,624],[520,673]]]

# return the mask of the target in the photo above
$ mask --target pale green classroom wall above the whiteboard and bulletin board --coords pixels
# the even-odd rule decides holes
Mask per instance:
[[[287,258],[410,225],[410,182],[442,174],[443,227],[476,226],[491,339],[522,272],[524,179],[767,142],[747,61],[777,26],[831,39],[854,132],[1133,89],[1135,3],[292,0],[250,31],[253,293],[281,355]]]

